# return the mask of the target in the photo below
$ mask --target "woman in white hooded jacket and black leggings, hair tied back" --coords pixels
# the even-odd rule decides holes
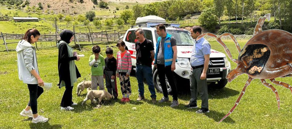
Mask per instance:
[[[41,87],[44,86],[44,81],[39,76],[36,51],[32,44],[38,41],[40,35],[38,30],[29,29],[16,46],[18,77],[27,84],[29,90],[29,102],[20,115],[32,117],[32,123],[48,121],[48,118],[37,113],[37,98],[44,92]],[[29,110],[30,108],[32,110]]]

